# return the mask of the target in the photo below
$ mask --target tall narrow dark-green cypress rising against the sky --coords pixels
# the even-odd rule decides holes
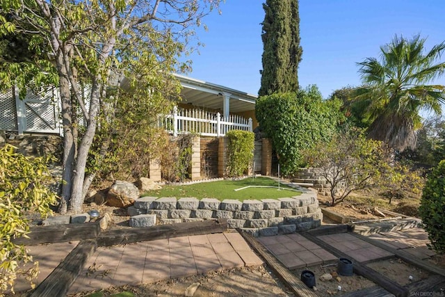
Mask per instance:
[[[264,22],[263,70],[259,95],[298,90],[298,64],[301,61],[298,0],[266,0]]]

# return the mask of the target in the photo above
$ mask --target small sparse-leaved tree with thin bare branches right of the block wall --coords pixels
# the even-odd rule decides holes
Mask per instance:
[[[366,139],[362,131],[339,133],[327,143],[305,151],[309,166],[330,185],[331,205],[342,202],[353,191],[378,183],[388,168],[382,142]]]

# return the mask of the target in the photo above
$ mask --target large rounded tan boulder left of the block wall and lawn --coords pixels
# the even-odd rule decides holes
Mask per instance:
[[[106,195],[106,203],[112,207],[129,207],[139,198],[139,190],[131,182],[117,180]]]

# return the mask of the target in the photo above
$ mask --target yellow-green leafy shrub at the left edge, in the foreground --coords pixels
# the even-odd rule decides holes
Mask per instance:
[[[13,290],[17,274],[24,274],[30,281],[37,276],[38,263],[24,269],[33,258],[13,239],[29,233],[26,211],[46,217],[51,214],[49,207],[56,204],[56,194],[48,187],[49,160],[49,157],[32,159],[17,154],[12,145],[0,149],[0,293],[8,287]]]

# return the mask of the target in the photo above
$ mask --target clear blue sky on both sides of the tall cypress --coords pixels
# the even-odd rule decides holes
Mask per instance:
[[[260,86],[261,25],[259,0],[227,0],[222,14],[203,19],[200,54],[193,54],[189,77],[257,95]],[[300,86],[316,84],[323,97],[360,83],[357,62],[378,57],[380,45],[394,35],[428,38],[426,49],[445,40],[444,0],[300,0],[303,49]],[[444,57],[445,60],[445,57]],[[445,84],[442,77],[436,83]]]

